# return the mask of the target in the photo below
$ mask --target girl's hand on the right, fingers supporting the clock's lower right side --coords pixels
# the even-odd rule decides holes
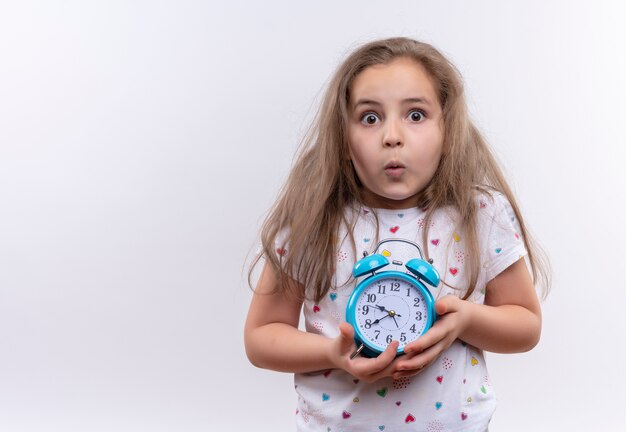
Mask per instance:
[[[406,354],[394,362],[393,378],[417,375],[448,349],[467,327],[467,305],[452,295],[437,300],[437,321],[422,337],[404,347]]]

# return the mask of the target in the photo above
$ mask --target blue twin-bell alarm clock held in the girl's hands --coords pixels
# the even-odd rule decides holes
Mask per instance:
[[[416,248],[419,258],[406,262],[396,259],[396,254],[389,252],[394,249],[394,243],[405,249],[407,245]],[[379,272],[390,264],[395,270]],[[364,252],[364,257],[354,265],[352,275],[355,278],[367,276],[357,284],[346,309],[346,320],[354,328],[357,346],[352,358],[359,353],[377,357],[392,340],[400,342],[397,355],[402,355],[408,343],[417,340],[434,324],[435,300],[426,284],[437,287],[440,277],[432,260],[423,259],[416,243],[404,239],[381,241],[372,255]]]

